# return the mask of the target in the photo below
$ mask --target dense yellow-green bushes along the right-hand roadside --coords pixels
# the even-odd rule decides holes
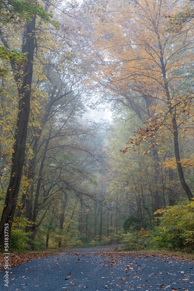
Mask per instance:
[[[127,250],[168,249],[172,251],[194,252],[194,201],[181,202],[155,212],[159,226],[129,228],[123,242]]]

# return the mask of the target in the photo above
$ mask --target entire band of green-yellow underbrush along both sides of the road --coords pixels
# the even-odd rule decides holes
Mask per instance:
[[[194,253],[194,201],[181,201],[175,206],[168,206],[154,213],[157,215],[155,221],[158,226],[153,227],[153,223],[146,223],[141,227],[140,219],[133,215],[126,219],[124,223],[125,234],[118,231],[118,234],[110,233],[92,239],[92,234],[80,235],[77,230],[58,233],[55,228],[49,233],[49,249],[58,249],[58,242],[61,241],[61,248],[83,248],[92,246],[106,246],[112,244],[125,243],[125,249],[130,251],[141,250],[170,250]],[[29,239],[31,233],[26,233],[26,228],[31,226],[31,222],[25,218],[16,218],[13,222],[10,236],[10,251],[25,252],[30,250],[29,245],[33,245],[33,250],[46,250],[47,228],[39,228],[32,242]],[[60,248],[59,248],[60,249]]]

